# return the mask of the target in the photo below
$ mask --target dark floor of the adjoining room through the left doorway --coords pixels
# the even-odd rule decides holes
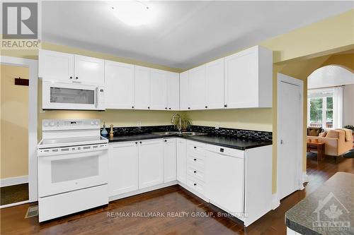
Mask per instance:
[[[7,205],[28,200],[28,183],[1,187],[0,198],[0,205]]]

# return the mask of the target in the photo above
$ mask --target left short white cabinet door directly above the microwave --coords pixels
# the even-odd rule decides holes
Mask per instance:
[[[38,76],[43,81],[72,83],[74,79],[74,55],[39,50]]]

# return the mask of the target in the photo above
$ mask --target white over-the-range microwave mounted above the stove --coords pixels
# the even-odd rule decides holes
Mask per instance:
[[[105,110],[104,87],[43,81],[42,109]]]

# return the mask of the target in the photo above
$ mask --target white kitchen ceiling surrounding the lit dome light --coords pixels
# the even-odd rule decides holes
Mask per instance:
[[[352,1],[147,1],[151,25],[121,23],[107,1],[43,1],[42,40],[190,68],[353,8]]]

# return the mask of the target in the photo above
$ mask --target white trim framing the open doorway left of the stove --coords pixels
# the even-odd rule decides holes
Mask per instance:
[[[37,176],[37,119],[38,119],[38,60],[0,56],[0,64],[30,68],[28,88],[28,196],[29,201],[38,200]]]

